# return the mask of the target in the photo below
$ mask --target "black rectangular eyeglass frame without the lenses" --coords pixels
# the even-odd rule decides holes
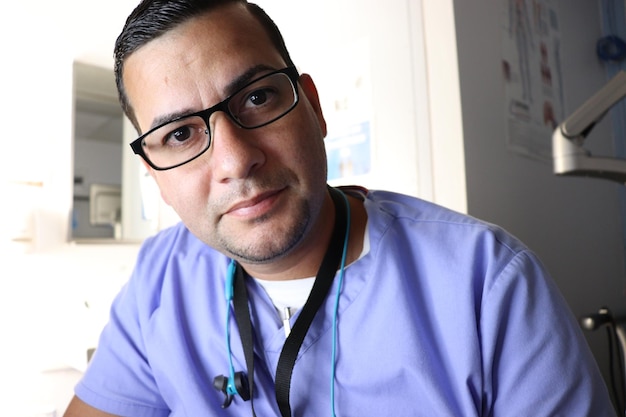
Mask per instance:
[[[289,78],[289,81],[292,84],[293,87],[293,93],[294,93],[294,101],[291,104],[291,106],[283,113],[281,113],[280,115],[261,123],[260,125],[254,125],[254,126],[246,126],[241,124],[241,122],[239,120],[237,120],[237,118],[230,112],[230,109],[228,108],[228,104],[230,103],[231,99],[233,97],[235,97],[237,94],[239,94],[242,90],[245,90],[246,88],[248,88],[250,85],[259,82],[261,80],[263,80],[264,78],[270,77],[272,75],[275,74],[285,74],[287,75],[287,77]],[[146,161],[146,163],[148,165],[150,165],[150,167],[152,167],[153,169],[157,170],[157,171],[166,171],[168,169],[172,169],[172,168],[176,168],[179,167],[181,165],[185,165],[188,162],[193,161],[194,159],[200,157],[202,154],[204,154],[210,147],[211,147],[211,143],[213,142],[213,138],[211,135],[211,129],[209,127],[209,119],[211,118],[211,115],[213,113],[216,113],[218,111],[222,111],[224,113],[226,113],[226,115],[239,127],[243,128],[243,129],[258,129],[259,127],[263,127],[263,126],[267,126],[270,123],[275,122],[276,120],[284,117],[285,115],[287,115],[289,112],[291,112],[291,110],[293,110],[296,105],[300,102],[300,94],[298,91],[298,80],[300,79],[300,74],[298,73],[298,70],[296,67],[294,66],[290,66],[290,67],[286,67],[286,68],[282,68],[276,71],[272,71],[272,72],[268,72],[267,74],[262,75],[259,78],[255,78],[254,80],[250,81],[249,83],[247,83],[246,85],[244,85],[243,87],[241,87],[240,89],[238,89],[237,91],[235,91],[234,93],[232,93],[231,95],[229,95],[228,97],[226,97],[224,100],[220,101],[219,103],[209,107],[208,109],[205,110],[200,110],[198,112],[195,113],[190,113],[190,114],[186,114],[183,116],[179,116],[176,117],[174,119],[168,120],[167,122],[161,123],[158,126],[153,127],[152,129],[148,130],[146,133],[144,133],[143,135],[139,136],[137,139],[133,140],[130,143],[130,147],[133,150],[133,152],[136,155],[139,155],[143,158],[144,161]],[[194,156],[193,158],[187,159],[186,161],[180,162],[178,164],[172,165],[172,166],[168,166],[168,167],[159,167],[157,165],[155,165],[150,158],[148,157],[148,155],[146,155],[144,149],[143,149],[143,141],[144,139],[149,136],[151,133],[155,132],[156,130],[162,128],[163,126],[166,126],[170,123],[182,120],[182,119],[186,119],[188,117],[194,117],[194,116],[199,116],[202,118],[202,120],[204,120],[204,122],[206,123],[207,126],[207,135],[209,136],[209,140],[207,141],[207,145],[206,147],[200,151],[196,156]]]

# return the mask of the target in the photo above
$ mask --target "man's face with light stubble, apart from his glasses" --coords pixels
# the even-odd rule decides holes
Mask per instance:
[[[141,47],[127,59],[123,76],[145,132],[167,115],[220,102],[244,74],[252,81],[283,67],[260,24],[235,5]],[[192,233],[246,263],[289,254],[320,224],[326,127],[312,81],[302,76],[300,84],[300,102],[283,118],[246,130],[217,112],[210,119],[206,153],[172,170],[149,168],[164,200]]]

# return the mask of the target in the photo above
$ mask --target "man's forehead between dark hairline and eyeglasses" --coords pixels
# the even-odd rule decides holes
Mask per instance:
[[[131,54],[123,79],[145,131],[167,112],[209,107],[229,93],[231,81],[254,67],[285,65],[262,25],[241,4],[193,18]]]

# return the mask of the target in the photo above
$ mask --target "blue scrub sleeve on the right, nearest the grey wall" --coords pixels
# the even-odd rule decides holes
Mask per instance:
[[[483,415],[615,415],[582,330],[532,253],[487,283],[481,309]]]

